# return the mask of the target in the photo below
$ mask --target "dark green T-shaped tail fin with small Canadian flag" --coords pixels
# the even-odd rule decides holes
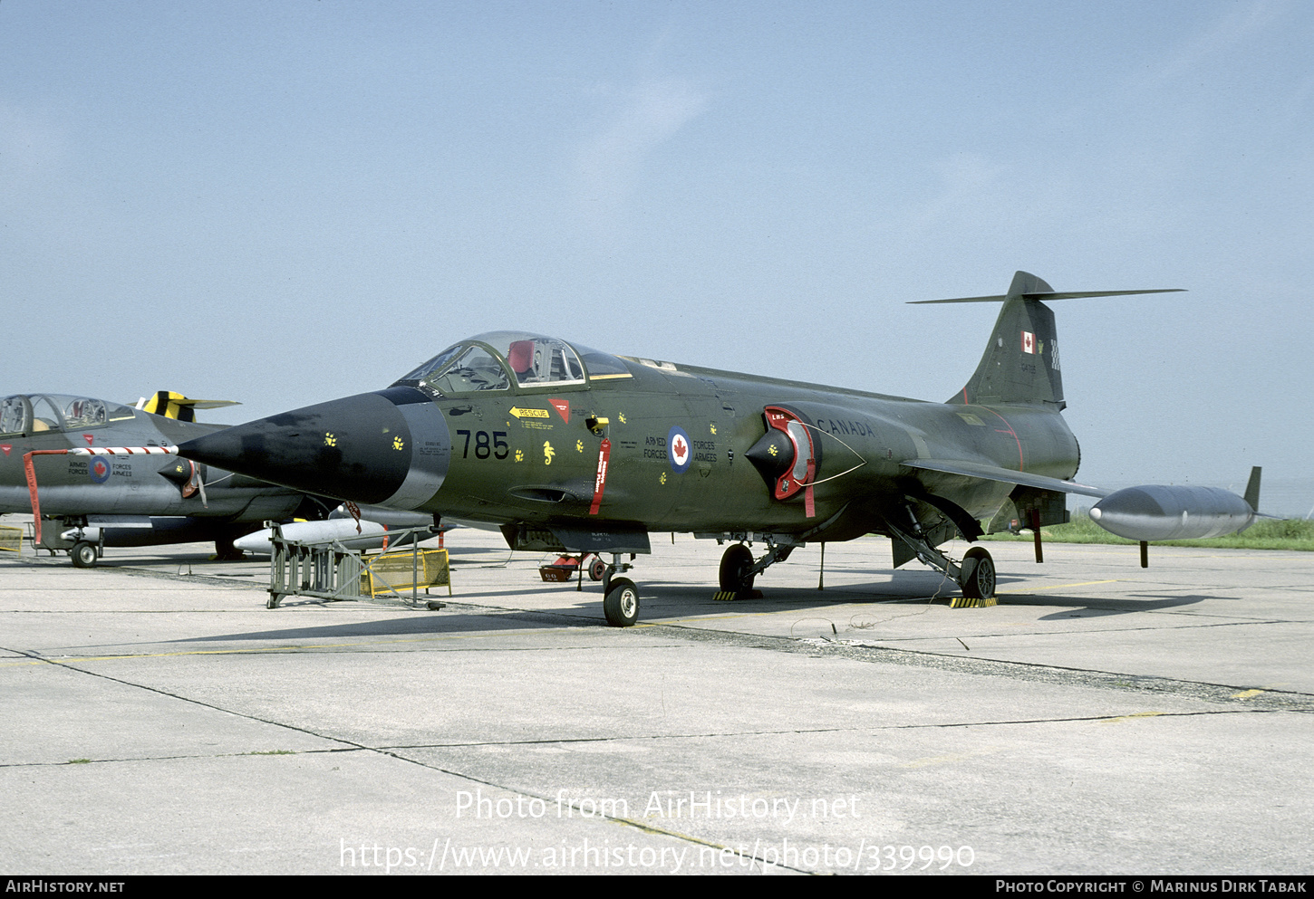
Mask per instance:
[[[1175,289],[1176,290],[1176,289]],[[1013,276],[1003,297],[922,299],[920,303],[1004,303],[976,373],[949,402],[961,404],[1029,404],[1067,408],[1059,370],[1054,312],[1043,299],[1163,294],[1173,290],[1097,290],[1058,293],[1029,272]]]

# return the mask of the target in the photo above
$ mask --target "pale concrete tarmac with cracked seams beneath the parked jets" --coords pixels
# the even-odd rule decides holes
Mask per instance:
[[[198,545],[0,554],[0,868],[1314,870],[1314,554],[988,543],[1000,605],[950,609],[867,538],[717,602],[721,549],[654,534],[622,630],[447,542],[440,612],[265,609],[267,562]]]

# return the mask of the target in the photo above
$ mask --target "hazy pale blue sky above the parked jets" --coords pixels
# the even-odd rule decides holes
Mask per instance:
[[[1055,303],[1084,479],[1303,514],[1311,46],[1300,1],[4,0],[0,392],[238,423],[524,328],[938,400],[996,310],[905,301],[1026,269],[1189,290]]]

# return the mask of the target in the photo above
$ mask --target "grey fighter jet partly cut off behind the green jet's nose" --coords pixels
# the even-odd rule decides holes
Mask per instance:
[[[214,541],[221,558],[240,556],[233,539],[267,518],[323,517],[328,505],[301,491],[173,454],[225,427],[194,421],[194,407],[218,404],[227,403],[163,391],[143,408],[63,394],[0,399],[0,514],[33,512],[38,545],[68,550],[84,568],[104,546]]]

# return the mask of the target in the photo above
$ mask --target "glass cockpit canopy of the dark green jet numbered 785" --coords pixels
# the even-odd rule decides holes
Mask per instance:
[[[583,360],[583,361],[581,361]],[[587,366],[587,367],[586,367]],[[448,346],[397,385],[439,395],[518,387],[583,385],[589,377],[628,374],[615,356],[543,335],[494,331]]]

